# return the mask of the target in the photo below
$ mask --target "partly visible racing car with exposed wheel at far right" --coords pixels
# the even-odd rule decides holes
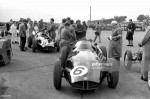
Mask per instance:
[[[124,54],[124,66],[127,70],[130,70],[132,67],[132,63],[139,61],[141,63],[142,61],[142,50],[139,49],[137,53],[131,52],[131,50],[126,50]]]

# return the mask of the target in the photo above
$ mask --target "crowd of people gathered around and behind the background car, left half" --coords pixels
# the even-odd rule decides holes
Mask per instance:
[[[75,23],[70,17],[62,19],[62,23],[58,27],[60,45],[62,45],[65,40],[70,42],[85,36],[87,28],[85,21],[81,24],[80,20],[77,20]],[[11,24],[7,23],[6,29],[7,34],[12,34],[11,42],[19,43],[20,50],[26,51],[32,47],[28,42],[29,39],[33,38],[33,31],[35,33],[47,33],[49,37],[55,40],[57,26],[54,24],[53,18],[50,19],[49,23],[43,22],[43,19],[37,22],[32,21],[30,18],[20,18],[18,22],[12,21]]]

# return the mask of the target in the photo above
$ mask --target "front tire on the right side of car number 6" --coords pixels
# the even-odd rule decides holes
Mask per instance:
[[[111,72],[109,72],[107,75],[107,82],[109,88],[116,88],[119,81],[119,66],[115,59],[112,59],[111,62],[112,62],[112,68],[111,68]]]

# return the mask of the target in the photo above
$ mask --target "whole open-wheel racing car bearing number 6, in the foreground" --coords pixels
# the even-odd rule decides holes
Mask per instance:
[[[55,62],[53,83],[57,90],[61,89],[63,77],[75,89],[97,89],[105,77],[108,86],[116,88],[119,66],[115,59],[107,58],[106,47],[80,40],[71,48],[63,46],[60,59]]]

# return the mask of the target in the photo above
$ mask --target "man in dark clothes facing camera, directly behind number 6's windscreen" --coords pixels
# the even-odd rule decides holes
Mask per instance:
[[[81,24],[80,20],[76,21],[75,31],[76,31],[77,40],[81,39],[82,37],[85,37],[86,30],[84,26]]]

